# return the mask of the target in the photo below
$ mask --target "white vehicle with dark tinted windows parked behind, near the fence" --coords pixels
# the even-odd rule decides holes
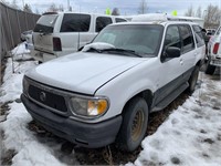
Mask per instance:
[[[44,62],[76,52],[107,24],[125,21],[120,17],[95,13],[44,13],[33,30],[31,54],[36,61]]]

